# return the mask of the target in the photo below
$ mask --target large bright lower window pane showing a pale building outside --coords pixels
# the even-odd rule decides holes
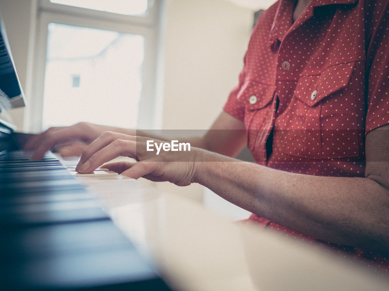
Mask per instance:
[[[134,128],[143,60],[142,35],[50,23],[42,127],[88,121]]]

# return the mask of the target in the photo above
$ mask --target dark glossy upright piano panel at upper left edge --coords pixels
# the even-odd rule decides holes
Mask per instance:
[[[15,64],[12,59],[3,19],[0,15],[0,112],[25,106]]]

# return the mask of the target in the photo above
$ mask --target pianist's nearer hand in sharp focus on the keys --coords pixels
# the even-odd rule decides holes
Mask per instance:
[[[137,162],[119,162],[104,165],[130,178],[144,177],[152,181],[169,181],[179,186],[187,186],[196,180],[196,158],[201,149],[190,151],[147,151],[147,137],[125,135],[123,133],[104,132],[82,153],[76,167],[80,173],[91,173],[98,166],[118,157],[127,156]],[[166,143],[153,140],[153,143]]]

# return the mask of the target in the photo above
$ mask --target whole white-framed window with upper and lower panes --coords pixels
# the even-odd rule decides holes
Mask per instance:
[[[41,0],[31,130],[155,128],[160,2]]]

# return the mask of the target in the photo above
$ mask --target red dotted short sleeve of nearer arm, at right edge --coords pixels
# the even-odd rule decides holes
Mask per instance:
[[[389,124],[389,1],[374,2],[371,3],[374,8],[370,9],[366,19],[366,26],[370,24],[371,28],[367,28],[368,110],[365,134]]]

